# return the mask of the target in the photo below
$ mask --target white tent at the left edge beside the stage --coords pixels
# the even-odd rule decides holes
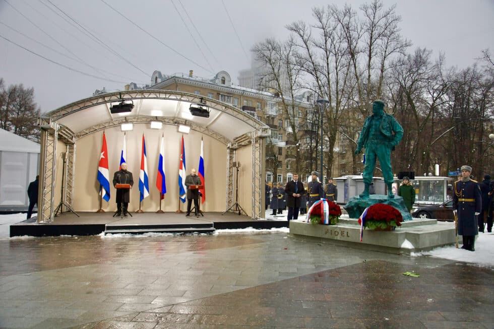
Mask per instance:
[[[0,211],[27,210],[27,187],[36,178],[40,145],[0,129]]]

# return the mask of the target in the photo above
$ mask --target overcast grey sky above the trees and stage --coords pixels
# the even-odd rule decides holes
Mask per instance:
[[[385,7],[397,5],[402,34],[413,42],[410,51],[427,47],[435,57],[444,51],[447,64],[458,68],[471,65],[482,49],[494,52],[492,0],[383,2]],[[342,7],[346,2],[331,3]],[[351,2],[355,8],[362,3]],[[114,91],[130,82],[149,84],[155,70],[163,74],[194,70],[194,75],[204,78],[225,70],[236,83],[238,71],[250,67],[254,43],[266,37],[285,39],[286,24],[311,23],[312,8],[327,4],[316,0],[0,0],[0,77],[8,85],[34,87],[42,112],[90,97],[103,87]],[[72,19],[88,32],[82,33]],[[95,77],[40,58],[2,37]]]

